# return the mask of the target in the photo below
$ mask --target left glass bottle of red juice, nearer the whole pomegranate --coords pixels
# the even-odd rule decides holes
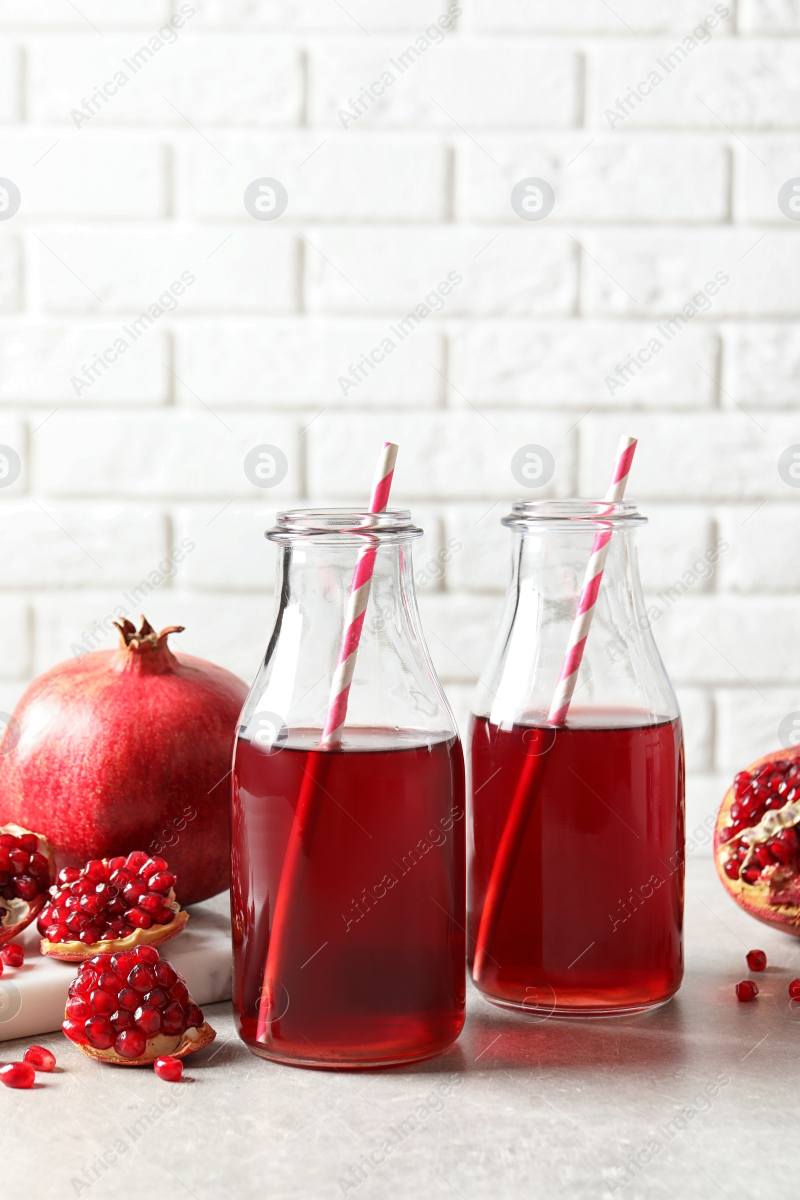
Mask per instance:
[[[464,1022],[464,766],[420,625],[420,534],[405,511],[338,509],[278,514],[267,533],[276,610],[234,754],[230,893],[234,1013],[267,1058],[408,1062],[444,1050]],[[323,749],[367,544],[347,718]]]

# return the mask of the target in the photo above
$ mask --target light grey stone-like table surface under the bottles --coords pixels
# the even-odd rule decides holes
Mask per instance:
[[[769,966],[740,1004],[754,947]],[[637,1018],[534,1021],[470,989],[456,1045],[389,1070],[264,1062],[227,1003],[205,1009],[217,1042],[178,1086],[41,1037],[59,1072],[0,1087],[4,1194],[794,1198],[800,1004],[787,985],[800,941],[740,912],[712,864],[691,862],[686,962],[679,995]],[[30,1040],[2,1044],[0,1061]]]

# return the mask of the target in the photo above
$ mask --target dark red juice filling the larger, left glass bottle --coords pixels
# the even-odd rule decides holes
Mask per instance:
[[[279,750],[240,740],[233,788],[234,1012],[257,1052],[319,1066],[427,1057],[464,1024],[465,865],[461,743],[348,731]],[[303,772],[330,757],[269,1051],[258,1006],[275,898]],[[284,1007],[285,1006],[285,1007]],[[324,1066],[324,1062],[321,1063]]]

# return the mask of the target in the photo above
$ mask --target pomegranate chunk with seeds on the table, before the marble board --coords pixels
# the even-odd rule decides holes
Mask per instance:
[[[216,1037],[186,980],[154,946],[82,962],[61,1028],[90,1058],[131,1067],[179,1061]]]

